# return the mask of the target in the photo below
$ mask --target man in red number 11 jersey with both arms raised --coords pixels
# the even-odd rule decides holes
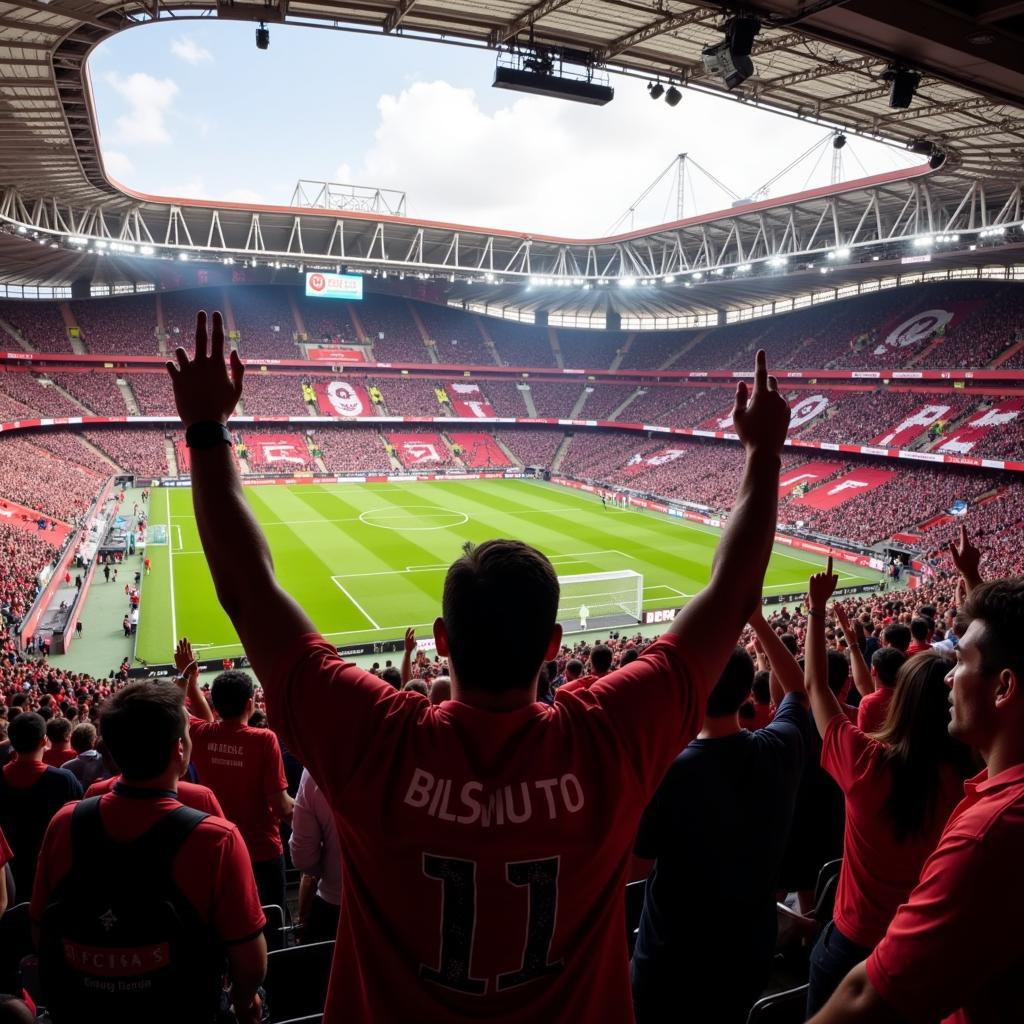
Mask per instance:
[[[536,700],[560,648],[558,579],[516,541],[449,569],[432,707],[342,660],[281,588],[224,423],[243,367],[220,314],[168,369],[221,604],[267,715],[337,815],[342,911],[325,1021],[628,1022],[624,900],[643,808],[696,735],[760,598],[790,412],[758,353],[737,385],[746,466],[712,580],[668,633],[589,689]],[[674,556],[666,553],[666,560]],[[682,568],[682,562],[677,562]]]

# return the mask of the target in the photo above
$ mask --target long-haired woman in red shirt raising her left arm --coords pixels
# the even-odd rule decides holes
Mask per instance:
[[[827,685],[825,604],[836,589],[831,559],[811,577],[807,693],[821,733],[821,765],[846,798],[843,866],[831,923],[811,953],[808,1017],[882,939],[918,884],[971,772],[970,751],[948,732],[952,667],[946,654],[908,658],[878,733],[858,729]]]

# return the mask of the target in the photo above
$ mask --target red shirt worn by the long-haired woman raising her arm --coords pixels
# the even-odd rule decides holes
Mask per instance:
[[[851,942],[867,947],[885,935],[896,908],[916,885],[921,865],[964,795],[963,782],[948,768],[931,827],[899,842],[884,811],[892,790],[885,750],[842,715],[828,723],[821,744],[821,767],[846,796],[843,867],[833,920]]]

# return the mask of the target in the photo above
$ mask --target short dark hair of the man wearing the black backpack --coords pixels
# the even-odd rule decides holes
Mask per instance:
[[[103,701],[99,733],[103,746],[128,779],[154,778],[167,769],[188,718],[184,694],[173,683],[129,683]]]

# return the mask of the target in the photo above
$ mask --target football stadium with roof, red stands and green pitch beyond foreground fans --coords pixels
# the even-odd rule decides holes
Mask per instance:
[[[304,777],[315,778],[319,798],[329,796],[312,763],[298,757],[301,743],[290,742],[296,726],[279,729],[274,713],[282,706],[264,696],[260,671],[269,671],[270,659],[254,653],[252,628],[247,634],[239,626],[241,604],[225,597],[214,549],[234,551],[234,541],[224,535],[220,544],[211,542],[216,517],[199,511],[208,486],[200,481],[209,479],[209,470],[193,462],[209,456],[186,437],[167,369],[169,360],[186,366],[176,352],[194,352],[199,310],[222,313],[226,348],[245,366],[225,437],[247,514],[272,555],[272,575],[301,607],[304,622],[378,681],[391,683],[387,670],[397,675],[404,654],[399,689],[412,681],[437,702],[431,687],[454,675],[435,628],[449,567],[467,544],[494,538],[538,549],[558,578],[555,621],[562,640],[540,670],[540,693],[548,703],[582,703],[570,690],[556,699],[557,691],[574,682],[566,672],[575,662],[587,680],[604,675],[607,667],[598,671],[603,655],[589,660],[599,647],[609,650],[612,672],[657,649],[656,638],[684,621],[690,602],[714,585],[716,558],[725,557],[723,537],[740,515],[737,494],[761,439],[751,436],[742,407],[734,406],[737,384],[756,384],[755,395],[761,394],[759,351],[788,409],[772,499],[777,521],[757,581],[769,632],[792,641],[792,654],[810,678],[812,616],[820,611],[808,596],[808,579],[826,560],[835,566],[837,600],[856,620],[857,633],[848,634],[829,612],[825,637],[829,656],[847,665],[845,688],[837,692],[854,726],[864,693],[852,647],[866,650],[860,660],[873,666],[871,651],[889,646],[882,640],[887,628],[905,625],[909,640],[919,629],[913,624],[924,622],[927,643],[948,643],[942,648],[948,654],[963,637],[963,629],[954,637],[954,622],[967,592],[981,579],[1024,575],[1024,25],[1020,4],[1002,0],[955,9],[910,0],[890,8],[866,0],[0,2],[5,760],[27,760],[7,740],[18,718],[24,724],[46,712],[49,752],[59,739],[59,729],[50,735],[49,723],[69,721],[69,733],[72,725],[99,725],[103,702],[132,683],[182,673],[183,684],[175,648],[187,637],[195,655],[186,659],[195,663],[187,672],[202,673],[195,685],[212,683],[222,670],[252,673],[251,710],[261,718],[259,727],[266,731],[268,724],[280,734],[297,772],[308,769]],[[276,42],[286,29],[467,47],[497,59],[496,86],[550,103],[603,108],[627,90],[645,90],[655,103],[665,97],[673,108],[681,96],[711,97],[725,112],[725,127],[717,140],[705,140],[705,152],[735,145],[740,159],[756,159],[756,140],[726,138],[729,112],[742,108],[763,119],[766,135],[775,123],[812,126],[820,137],[814,155],[819,162],[830,157],[833,173],[813,186],[778,195],[768,189],[717,210],[687,212],[686,161],[680,157],[677,216],[646,226],[620,224],[604,237],[567,237],[536,222],[511,229],[459,223],[446,213],[411,216],[403,193],[373,182],[302,180],[291,201],[280,205],[148,195],[123,185],[114,173],[118,158],[100,138],[90,61],[99,67],[94,54],[109,40],[141,38],[150,23],[201,26],[203,19],[242,23],[247,33],[255,31],[259,50],[271,46],[271,33]],[[298,94],[299,86],[283,83],[281,90]],[[862,143],[898,153],[900,166],[841,174],[839,168],[850,166],[842,165],[844,148]],[[240,166],[243,177],[244,170]],[[461,170],[453,165],[454,179]],[[498,185],[484,179],[473,187],[486,194]],[[199,365],[194,359],[191,366]],[[750,410],[763,409],[765,400],[752,399]],[[223,502],[207,499],[210,504]],[[771,519],[770,512],[763,519]],[[967,550],[981,552],[974,573],[964,567],[965,535]],[[259,579],[253,577],[254,587]],[[914,643],[921,637],[913,632]],[[755,625],[734,640],[749,647],[773,686],[785,676]],[[502,651],[492,657],[500,665]],[[870,675],[870,668],[864,671]],[[748,711],[760,715],[753,692],[740,719]],[[187,693],[195,716],[198,698]],[[403,690],[398,695],[406,696]],[[206,699],[216,705],[209,687]],[[319,698],[310,703],[318,707]],[[328,701],[323,703],[326,711]],[[784,700],[781,694],[775,700],[773,691],[773,715],[776,705]],[[813,693],[811,709],[816,717]],[[219,707],[215,711],[218,719],[227,718]],[[626,715],[624,730],[631,721]],[[394,728],[384,720],[377,727],[381,735]],[[868,733],[876,735],[865,728]],[[70,760],[75,755],[67,738],[61,741]],[[193,741],[199,742],[195,735]],[[972,745],[984,753],[980,743]],[[820,757],[820,742],[817,750]],[[207,782],[220,797],[198,758],[188,767],[185,756],[187,777],[197,787]],[[484,762],[502,784],[518,785],[501,765]],[[386,766],[378,763],[380,777],[390,777]],[[292,768],[288,758],[285,767]],[[129,779],[123,765],[122,771]],[[211,769],[210,777],[215,774]],[[409,785],[406,803],[413,806],[415,785],[398,780],[397,771],[392,781]],[[635,781],[625,790],[633,793]],[[438,776],[424,806],[431,816],[462,820],[444,818],[452,779],[447,791],[444,783]],[[289,777],[291,797],[298,784],[298,774]],[[559,792],[571,810],[572,791]],[[549,791],[545,796],[553,799]],[[847,792],[848,828],[852,799]],[[0,788],[0,855],[9,827],[5,800],[10,807],[16,803],[6,783]],[[342,822],[340,803],[332,797]],[[514,820],[507,793],[497,807],[495,813],[504,808]],[[634,829],[640,810],[642,805]],[[290,819],[291,813],[289,803],[279,817]],[[883,814],[878,808],[873,813]],[[783,835],[788,826],[787,819]],[[345,836],[347,826],[339,827]],[[796,835],[798,825],[793,828]],[[244,828],[242,835],[252,853]],[[741,1007],[727,1009],[732,997],[723,996],[721,1014],[697,1000],[691,1017],[683,1016],[685,1006],[676,1017],[659,1016],[664,1010],[651,1007],[664,993],[648,993],[653,1002],[644,1008],[634,959],[636,1019],[811,1019],[812,949],[833,927],[837,880],[843,912],[855,902],[854,882],[839,874],[840,857],[851,862],[842,820],[838,835],[839,848],[810,844],[810,876],[780,868],[781,881],[771,887],[777,890],[773,905],[778,896],[769,913],[777,913],[771,970],[744,990]],[[32,861],[39,843],[56,842],[49,836],[44,841],[40,831]],[[923,854],[937,841],[938,833]],[[271,860],[287,849],[279,838]],[[430,856],[422,854],[423,874],[433,885],[443,882],[445,914],[450,887],[454,892],[465,883],[451,865],[472,863],[443,859],[457,852],[443,854],[446,867],[430,867]],[[639,844],[636,853],[645,856]],[[352,856],[350,864],[343,851],[346,872],[358,866]],[[544,863],[536,856],[527,851],[520,861]],[[632,953],[638,928],[643,944],[645,893],[646,920],[653,920],[655,884],[653,874],[630,873],[626,888],[628,859],[623,853],[616,862],[620,874],[609,889],[618,903],[609,913],[622,916],[622,890]],[[355,984],[354,976],[342,977],[337,958],[331,974],[334,939],[302,939],[306,883],[300,876],[311,880],[311,893],[317,872],[300,871],[289,855],[287,891],[267,899],[257,861],[253,854],[256,908],[271,911],[263,916],[270,924],[257,929],[268,930],[271,947],[261,988],[269,1016],[263,1019],[371,1019],[367,1007],[355,1010],[346,1001],[345,986]],[[819,876],[823,865],[833,866]],[[396,985],[409,988],[401,999],[371,1007],[374,1019],[414,1019],[408,1016],[414,1013],[431,1021],[633,1019],[625,969],[603,1009],[600,999],[573,1001],[548,991],[545,986],[557,987],[547,980],[558,975],[554,959],[545,958],[547,947],[530,945],[537,938],[534,900],[541,899],[544,883],[537,873],[515,881],[511,858],[508,867],[508,881],[503,874],[500,882],[528,887],[530,894],[525,953],[516,938],[516,955],[524,957],[520,973],[539,972],[509,985],[518,986],[516,992],[530,986],[544,992],[518,1002],[518,994],[501,992],[503,979],[519,978],[508,973],[518,965],[496,967],[496,953],[481,967],[498,979],[496,1001],[477,1013],[466,993],[482,998],[486,983],[476,992],[469,952],[462,952],[465,963],[450,963],[445,946],[435,957],[439,968],[431,961],[435,966],[421,965],[417,975],[414,965],[413,980]],[[919,861],[914,882],[920,868]],[[23,884],[15,899],[0,899],[0,994],[27,996],[28,1007],[50,1009],[50,1019],[60,1024],[70,1019],[67,1000],[48,1005],[34,962],[32,887],[25,891],[24,879],[11,870],[8,895],[15,880]],[[793,896],[808,892],[802,902]],[[908,895],[904,886],[886,924]],[[368,905],[359,907],[366,928],[374,913],[387,916]],[[342,908],[344,932],[344,902]],[[337,920],[337,908],[334,913]],[[488,918],[482,907],[480,913],[498,931],[508,921]],[[843,928],[849,919],[839,913],[837,927]],[[472,933],[472,927],[459,927]],[[444,942],[455,943],[457,926],[445,916],[440,927]],[[564,949],[569,939],[558,932],[554,940],[555,927],[552,919],[548,946],[553,950],[554,941]],[[595,919],[593,928],[602,927]],[[622,945],[621,926],[615,928]],[[876,946],[882,949],[889,942],[885,934],[883,927],[869,941],[850,940],[862,950],[850,966]],[[348,933],[356,947],[361,940]],[[75,941],[84,948],[93,940]],[[389,970],[400,973],[412,963],[401,959],[411,955],[409,948],[392,950],[392,961],[380,943],[367,941],[368,956]],[[612,955],[625,964],[626,953],[616,946]],[[45,967],[45,953],[40,955]],[[1024,965],[1019,940],[1007,963],[1011,973]],[[935,962],[927,967],[939,970]],[[867,970],[879,988],[878,976]],[[425,991],[435,982],[445,992],[458,990],[458,997],[433,1001]],[[978,984],[998,989],[997,981]],[[362,994],[370,999],[372,991],[371,985]],[[880,991],[885,999],[888,990]],[[956,1000],[970,1002],[973,995],[949,998],[931,1008],[936,1013],[927,1019],[969,1024],[1024,1018],[1019,994],[989,1016],[961,1009],[966,1004]],[[826,1008],[813,1019],[918,1019],[909,1002],[893,999],[904,1017],[830,1017]],[[133,1013],[150,1013],[145,1002],[131,1006]],[[246,1016],[262,1004],[254,1006],[245,1013],[236,1007],[237,1019],[260,1019]],[[3,1008],[0,1002],[0,1021],[23,1019],[4,1017]],[[953,1011],[958,1015],[948,1016]],[[93,1019],[90,1012],[86,1019]],[[121,1018],[103,1010],[94,1019]]]

